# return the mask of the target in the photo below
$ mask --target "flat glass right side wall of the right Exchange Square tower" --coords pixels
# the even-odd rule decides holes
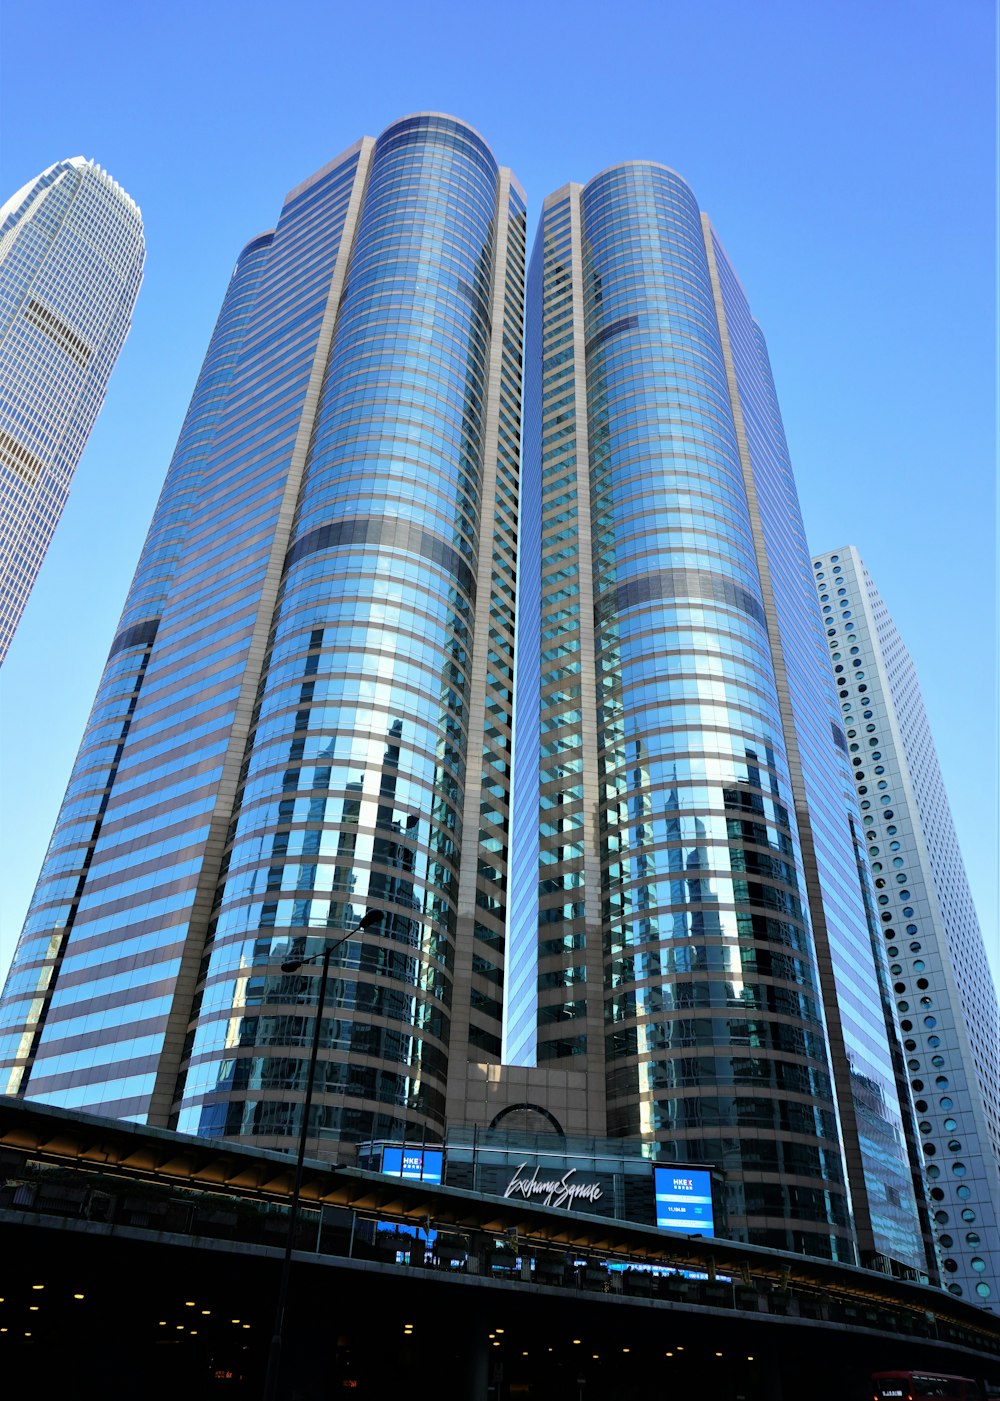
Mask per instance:
[[[824,639],[811,600],[810,555],[789,461],[768,347],[739,282],[711,235],[717,296],[751,474],[759,558],[776,628],[776,674],[800,824],[812,925],[822,968],[831,1051],[840,1086],[840,1128],[850,1164],[861,1255],[924,1267],[917,1202],[892,1063],[898,1034],[878,978],[866,888],[859,880],[860,813],[852,793]],[[832,741],[832,743],[831,743]],[[861,871],[861,877],[863,877]],[[870,891],[868,891],[870,894]],[[887,1024],[888,1023],[888,1024]],[[903,1097],[906,1094],[902,1087]],[[926,1215],[926,1212],[924,1212]]]

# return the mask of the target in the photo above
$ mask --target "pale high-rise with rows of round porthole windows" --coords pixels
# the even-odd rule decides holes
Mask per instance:
[[[1000,1299],[1000,1014],[920,682],[853,545],[814,559],[947,1288]]]

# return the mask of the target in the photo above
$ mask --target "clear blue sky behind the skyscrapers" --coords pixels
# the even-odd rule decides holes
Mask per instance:
[[[768,338],[814,549],[856,544],[922,677],[994,968],[992,0],[4,6],[0,202],[99,161],[146,220],[132,335],[3,672],[0,976],[237,252],[419,109],[542,198],[678,170]]]

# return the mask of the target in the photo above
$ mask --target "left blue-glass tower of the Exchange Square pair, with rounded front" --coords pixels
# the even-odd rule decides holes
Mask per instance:
[[[4,999],[6,1087],[284,1146],[499,1058],[524,202],[434,113],[242,252]],[[487,853],[485,856],[485,853]],[[461,986],[461,996],[455,988]]]

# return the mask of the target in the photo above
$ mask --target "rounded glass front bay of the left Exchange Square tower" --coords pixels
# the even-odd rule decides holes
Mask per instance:
[[[328,995],[336,1054],[317,1082],[315,1132],[440,1132],[469,822],[468,1035],[499,1055],[513,570],[510,602],[497,587],[479,626],[476,600],[503,577],[517,492],[520,385],[493,331],[508,311],[520,338],[520,301],[504,305],[503,276],[494,289],[500,185],[483,143],[447,119],[401,122],[374,146],[223,859],[182,1129],[298,1132],[315,979],[275,965],[374,908],[380,930],[345,944]],[[503,198],[510,207],[508,181]],[[487,464],[492,377],[511,395],[514,434]],[[492,870],[487,850],[500,853]]]

